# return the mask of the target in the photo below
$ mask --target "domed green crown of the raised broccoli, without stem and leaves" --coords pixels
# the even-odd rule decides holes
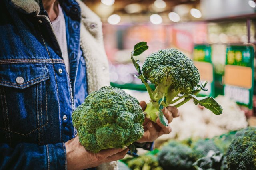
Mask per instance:
[[[200,73],[193,61],[174,48],[149,55],[142,71],[145,78],[159,89],[158,93],[190,93],[200,80]],[[168,97],[172,95],[166,96],[167,101],[172,101],[173,98]]]

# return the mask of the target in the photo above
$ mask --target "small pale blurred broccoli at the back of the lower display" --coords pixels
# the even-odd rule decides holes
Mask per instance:
[[[198,141],[192,143],[191,147],[194,150],[194,155],[198,159],[207,156],[210,150],[220,152],[220,148],[216,146],[213,140],[199,139]]]

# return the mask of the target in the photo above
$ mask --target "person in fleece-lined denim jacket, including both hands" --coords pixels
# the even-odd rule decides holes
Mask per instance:
[[[86,169],[124,158],[79,143],[72,111],[110,85],[102,23],[80,0],[0,1],[0,169]],[[144,101],[142,107],[146,107]],[[164,108],[170,123],[175,107]],[[144,122],[137,142],[171,132]]]

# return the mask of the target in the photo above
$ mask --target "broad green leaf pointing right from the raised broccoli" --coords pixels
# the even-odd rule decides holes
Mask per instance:
[[[222,114],[222,107],[221,105],[212,97],[196,97],[195,95],[188,94],[189,97],[194,99],[194,103],[197,105],[204,106],[206,109],[209,109],[215,115]]]

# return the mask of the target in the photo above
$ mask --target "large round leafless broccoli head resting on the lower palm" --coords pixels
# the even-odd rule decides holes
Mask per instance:
[[[79,141],[86,150],[123,148],[144,134],[144,114],[139,102],[115,87],[90,93],[72,114]]]

